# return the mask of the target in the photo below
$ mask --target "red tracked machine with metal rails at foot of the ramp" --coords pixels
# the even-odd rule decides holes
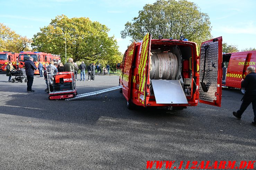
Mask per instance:
[[[77,96],[76,81],[74,71],[58,72],[56,74],[47,72],[49,83],[49,99],[60,100]]]

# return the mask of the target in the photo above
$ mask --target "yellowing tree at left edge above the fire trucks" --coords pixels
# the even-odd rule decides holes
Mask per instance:
[[[0,23],[0,51],[17,53],[20,51],[29,51],[31,50],[29,48],[31,42],[31,39],[20,36],[3,23]]]

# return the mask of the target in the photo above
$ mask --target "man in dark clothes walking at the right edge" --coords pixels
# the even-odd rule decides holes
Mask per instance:
[[[233,112],[233,115],[237,119],[241,119],[242,114],[246,110],[246,108],[252,103],[253,112],[254,112],[254,121],[251,122],[254,126],[256,126],[256,73],[255,67],[250,66],[247,67],[245,79],[241,80],[241,88],[245,88],[245,94],[242,98],[242,104],[240,109],[236,112]]]

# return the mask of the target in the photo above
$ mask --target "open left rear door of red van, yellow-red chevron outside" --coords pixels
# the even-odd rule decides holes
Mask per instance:
[[[139,67],[138,67],[138,99],[139,105],[145,106],[147,103],[146,101],[146,84],[148,78],[148,62],[149,62],[149,53],[150,53],[150,44],[151,44],[151,35],[147,33],[142,40],[141,48],[140,48],[140,57],[139,57]]]

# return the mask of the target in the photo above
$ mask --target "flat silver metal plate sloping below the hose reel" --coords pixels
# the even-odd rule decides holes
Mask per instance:
[[[151,80],[157,104],[188,104],[179,80]]]

